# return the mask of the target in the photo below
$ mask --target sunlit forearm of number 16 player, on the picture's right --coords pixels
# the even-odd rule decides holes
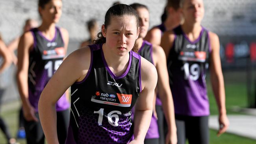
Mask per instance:
[[[135,110],[134,114],[134,139],[144,142],[152,117],[152,110]]]

